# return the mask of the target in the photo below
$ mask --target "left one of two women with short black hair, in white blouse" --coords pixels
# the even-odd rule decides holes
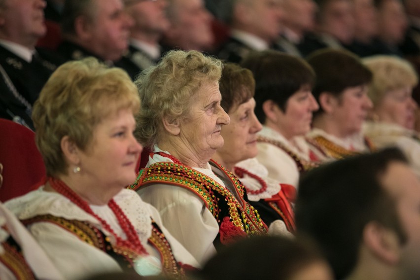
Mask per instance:
[[[314,71],[304,60],[276,51],[251,53],[242,66],[254,74],[255,114],[263,124],[256,158],[269,177],[296,188],[300,173],[323,159],[304,138],[318,108],[311,93]]]

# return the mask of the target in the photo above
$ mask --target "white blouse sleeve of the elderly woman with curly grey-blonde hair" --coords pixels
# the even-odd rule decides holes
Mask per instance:
[[[219,226],[204,202],[192,191],[154,184],[138,193],[143,201],[158,210],[165,229],[201,266],[216,252],[213,241]]]

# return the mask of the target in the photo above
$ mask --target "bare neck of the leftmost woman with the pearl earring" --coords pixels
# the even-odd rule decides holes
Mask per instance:
[[[72,171],[70,171],[72,173]],[[83,171],[81,171],[82,173]],[[74,191],[81,199],[86,201],[89,205],[106,205],[108,202],[118,194],[121,188],[115,186],[98,186],[96,180],[87,179],[83,174],[58,175],[58,179],[62,180],[72,191]],[[54,191],[54,189],[47,185],[47,191]]]

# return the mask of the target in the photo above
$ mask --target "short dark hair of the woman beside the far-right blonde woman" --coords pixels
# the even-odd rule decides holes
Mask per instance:
[[[367,85],[372,80],[372,72],[362,64],[359,57],[346,50],[320,49],[306,60],[315,71],[316,81],[312,93],[318,104],[323,92],[340,98],[347,88]],[[319,105],[314,115],[323,111],[322,105]]]

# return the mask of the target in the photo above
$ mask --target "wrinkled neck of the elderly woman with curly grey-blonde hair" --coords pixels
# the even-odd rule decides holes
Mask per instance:
[[[164,151],[170,152],[170,154],[179,159],[182,164],[199,168],[205,168],[215,152],[214,150],[197,152],[191,148],[189,143],[181,143],[176,140],[172,141],[170,138],[168,141],[159,143],[158,147]]]

